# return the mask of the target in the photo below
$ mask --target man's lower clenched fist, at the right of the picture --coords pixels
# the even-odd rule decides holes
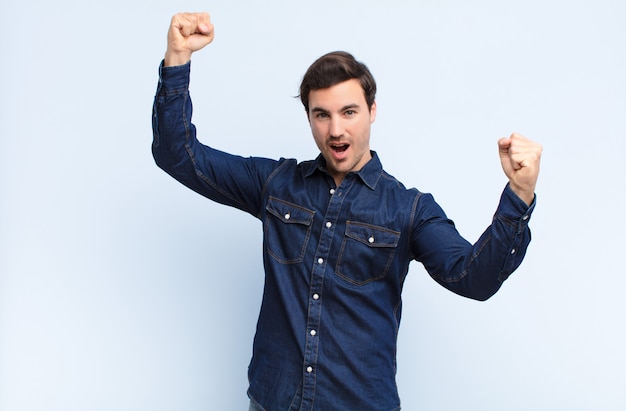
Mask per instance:
[[[539,177],[542,147],[521,134],[513,133],[498,140],[500,162],[510,187],[519,198],[530,205],[535,198],[535,185]]]

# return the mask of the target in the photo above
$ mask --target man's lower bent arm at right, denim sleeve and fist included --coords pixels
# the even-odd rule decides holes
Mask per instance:
[[[419,200],[415,221],[416,260],[445,288],[477,300],[498,291],[521,264],[531,238],[528,223],[535,208],[542,148],[517,133],[500,139],[498,147],[509,183],[478,241],[466,241],[430,195]]]

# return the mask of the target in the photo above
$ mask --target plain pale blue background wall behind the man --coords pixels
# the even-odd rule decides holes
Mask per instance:
[[[261,226],[157,169],[150,115],[177,11],[202,141],[317,154],[297,88],[346,49],[379,83],[372,147],[472,241],[505,184],[496,141],[544,145],[533,242],[486,303],[414,263],[404,410],[626,409],[626,3],[3,1],[0,410],[246,409]]]

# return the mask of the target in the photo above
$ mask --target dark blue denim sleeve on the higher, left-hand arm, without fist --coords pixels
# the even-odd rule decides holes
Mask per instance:
[[[255,217],[265,181],[280,161],[244,158],[200,143],[191,122],[191,63],[159,67],[152,109],[152,155],[156,164],[197,193]]]

